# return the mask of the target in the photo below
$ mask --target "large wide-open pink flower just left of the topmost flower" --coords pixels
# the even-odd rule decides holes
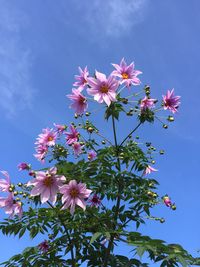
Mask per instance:
[[[96,78],[88,78],[90,88],[87,89],[89,95],[94,96],[94,100],[98,103],[105,102],[110,106],[111,102],[116,101],[116,90],[119,86],[118,81],[113,77],[98,71],[95,72]]]

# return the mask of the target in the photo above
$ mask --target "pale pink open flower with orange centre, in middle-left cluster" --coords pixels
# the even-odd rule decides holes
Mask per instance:
[[[54,146],[55,145],[55,141],[57,138],[57,133],[53,130],[53,129],[43,129],[42,133],[39,134],[37,141],[36,141],[36,145],[46,145],[46,146]]]

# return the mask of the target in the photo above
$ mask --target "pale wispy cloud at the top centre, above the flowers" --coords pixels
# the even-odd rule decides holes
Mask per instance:
[[[93,0],[79,1],[78,6],[92,33],[119,37],[129,33],[143,19],[147,3],[148,0]]]

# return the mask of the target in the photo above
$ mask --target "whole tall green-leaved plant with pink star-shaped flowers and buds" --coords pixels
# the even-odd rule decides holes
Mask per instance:
[[[148,219],[164,222],[152,215],[155,206],[175,210],[176,205],[168,195],[159,196],[158,181],[151,178],[157,171],[153,167],[156,148],[139,142],[135,132],[145,123],[160,122],[158,112],[176,113],[180,96],[168,90],[159,102],[151,98],[147,85],[136,92],[142,72],[124,59],[112,65],[108,76],[99,71],[90,76],[87,67],[79,68],[67,95],[76,122],[54,123],[36,139],[34,156],[50,166],[35,170],[25,162],[19,164],[19,170],[28,171],[32,179],[17,185],[2,171],[0,207],[9,218],[0,223],[0,230],[20,238],[25,232],[31,238],[44,235],[37,247],[26,248],[3,266],[139,267],[148,266],[148,258],[162,267],[200,265],[180,245],[139,232]],[[89,119],[92,102],[101,104],[113,137],[106,137]],[[131,125],[136,123],[125,135],[125,130],[117,131],[124,115]],[[166,119],[174,121],[170,114]],[[162,122],[164,129],[167,123]],[[130,257],[117,253],[116,246],[123,244],[130,245]]]

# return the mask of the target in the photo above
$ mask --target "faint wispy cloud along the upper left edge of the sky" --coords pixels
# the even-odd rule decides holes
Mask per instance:
[[[0,108],[7,116],[30,107],[34,90],[30,84],[31,56],[23,45],[22,12],[1,2],[0,9]]]

